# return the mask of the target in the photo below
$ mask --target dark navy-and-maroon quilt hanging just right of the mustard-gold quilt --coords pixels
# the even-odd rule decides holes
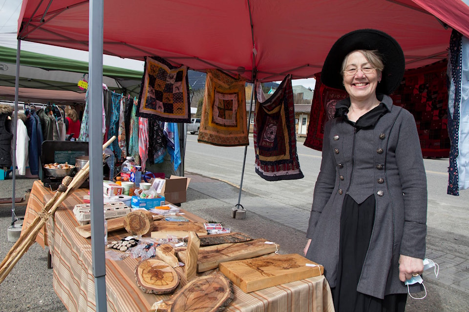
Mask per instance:
[[[260,84],[256,87],[260,92]],[[292,76],[285,77],[275,93],[264,102],[257,98],[256,95],[256,173],[267,181],[303,178],[297,154]]]

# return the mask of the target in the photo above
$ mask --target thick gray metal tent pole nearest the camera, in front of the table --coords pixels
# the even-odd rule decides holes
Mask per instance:
[[[104,0],[89,1],[89,189],[91,251],[96,311],[107,311],[103,203],[103,33]]]

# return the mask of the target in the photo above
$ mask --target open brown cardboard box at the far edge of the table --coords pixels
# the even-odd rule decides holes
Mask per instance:
[[[185,202],[186,191],[190,178],[185,176],[170,176],[169,179],[154,179],[152,187],[161,196],[165,196],[166,203],[179,204]]]

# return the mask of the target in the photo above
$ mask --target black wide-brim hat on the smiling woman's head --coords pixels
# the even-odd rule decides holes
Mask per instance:
[[[321,82],[328,87],[345,90],[342,82],[342,61],[355,50],[378,50],[384,63],[377,93],[389,95],[397,89],[405,70],[402,48],[388,34],[376,29],[359,29],[343,35],[334,43],[322,66]]]

